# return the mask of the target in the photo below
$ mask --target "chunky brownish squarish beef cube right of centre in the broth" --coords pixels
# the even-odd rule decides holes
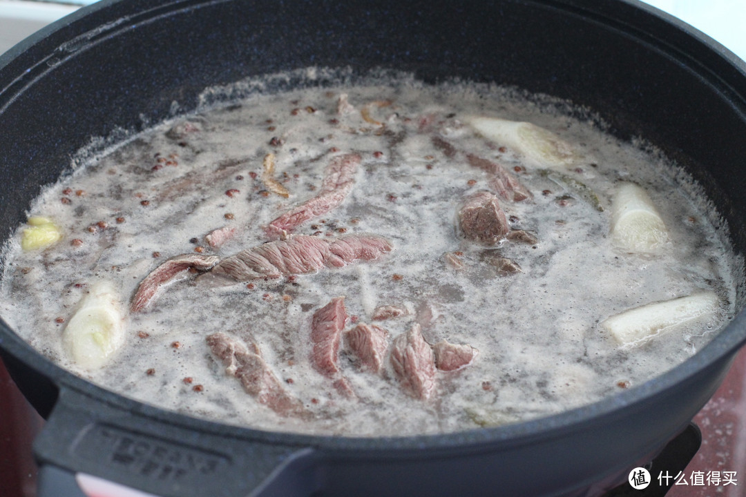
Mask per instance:
[[[510,232],[498,197],[489,191],[478,191],[466,198],[459,212],[461,229],[466,238],[494,245]]]

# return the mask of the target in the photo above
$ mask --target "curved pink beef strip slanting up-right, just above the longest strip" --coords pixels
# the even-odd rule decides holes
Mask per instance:
[[[360,160],[357,153],[348,153],[331,159],[325,171],[321,192],[269,223],[267,233],[273,236],[284,235],[304,222],[325,215],[339,206],[352,189],[355,170]]]

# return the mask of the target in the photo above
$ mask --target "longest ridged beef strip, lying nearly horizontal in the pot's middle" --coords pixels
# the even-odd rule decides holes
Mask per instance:
[[[358,260],[370,261],[391,249],[386,238],[376,235],[345,235],[333,239],[292,235],[223,259],[210,275],[241,282],[275,279],[313,273],[325,267],[341,268]]]

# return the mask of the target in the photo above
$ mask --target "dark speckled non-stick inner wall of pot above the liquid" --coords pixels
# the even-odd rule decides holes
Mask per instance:
[[[0,58],[1,226],[21,223],[81,148],[188,113],[208,86],[310,66],[496,82],[587,107],[687,168],[746,247],[745,66],[612,0],[101,1]],[[744,339],[729,333],[712,359]]]

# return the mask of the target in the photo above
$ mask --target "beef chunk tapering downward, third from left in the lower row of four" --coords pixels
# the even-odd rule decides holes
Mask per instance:
[[[417,399],[430,399],[435,390],[435,355],[424,341],[419,324],[394,339],[391,364],[407,392]]]

